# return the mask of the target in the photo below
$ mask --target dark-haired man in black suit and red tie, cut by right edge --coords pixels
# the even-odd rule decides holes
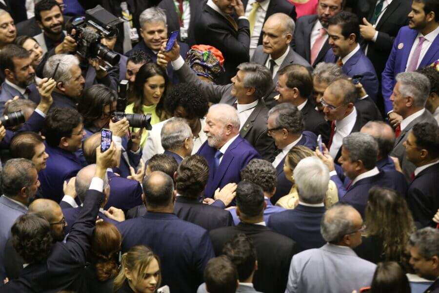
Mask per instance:
[[[439,126],[426,122],[416,124],[403,145],[407,160],[416,166],[407,190],[413,219],[421,227],[436,228],[432,219],[439,209]]]

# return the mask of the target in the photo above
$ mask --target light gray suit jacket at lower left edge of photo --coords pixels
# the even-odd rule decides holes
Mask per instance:
[[[15,220],[27,212],[24,207],[13,202],[5,195],[0,197],[0,278],[4,279],[4,248],[11,233]]]

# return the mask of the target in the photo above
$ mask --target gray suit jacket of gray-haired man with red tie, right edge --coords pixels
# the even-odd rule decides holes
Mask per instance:
[[[421,116],[413,120],[401,131],[401,134],[399,134],[399,137],[395,140],[395,145],[392,152],[390,153],[390,156],[398,158],[399,165],[401,166],[402,172],[404,173],[407,181],[411,181],[410,175],[413,171],[415,171],[416,167],[407,160],[405,156],[405,147],[402,145],[402,143],[407,140],[407,137],[412,127],[415,126],[415,124],[422,122],[437,124],[433,115],[427,109],[425,109],[424,113]]]

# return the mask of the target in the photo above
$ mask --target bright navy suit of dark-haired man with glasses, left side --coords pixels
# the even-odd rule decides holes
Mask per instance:
[[[47,167],[38,173],[41,183],[41,192],[44,198],[59,203],[64,195],[62,186],[64,181],[75,177],[78,171],[87,166],[85,159],[78,152],[72,153],[59,147],[46,144]]]

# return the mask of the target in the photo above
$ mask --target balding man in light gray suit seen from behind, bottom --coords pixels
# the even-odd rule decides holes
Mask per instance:
[[[329,208],[320,225],[327,243],[293,256],[285,293],[358,292],[370,286],[376,265],[359,258],[352,250],[361,244],[363,230],[363,220],[351,206]]]

